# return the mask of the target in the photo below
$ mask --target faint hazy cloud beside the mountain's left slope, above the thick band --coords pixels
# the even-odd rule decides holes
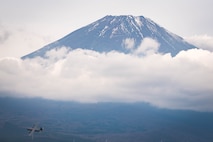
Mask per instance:
[[[0,24],[0,58],[8,56],[21,57],[50,41],[49,37],[41,36],[36,32]]]

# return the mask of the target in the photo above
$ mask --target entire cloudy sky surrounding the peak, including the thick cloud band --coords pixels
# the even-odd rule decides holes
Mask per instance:
[[[213,1],[0,3],[0,96],[79,102],[141,101],[163,108],[213,111]],[[198,49],[171,57],[156,53],[157,41],[144,39],[137,51],[150,45],[154,51],[143,57],[137,52],[98,53],[62,47],[46,53],[46,59],[20,59],[106,15],[145,16]]]

